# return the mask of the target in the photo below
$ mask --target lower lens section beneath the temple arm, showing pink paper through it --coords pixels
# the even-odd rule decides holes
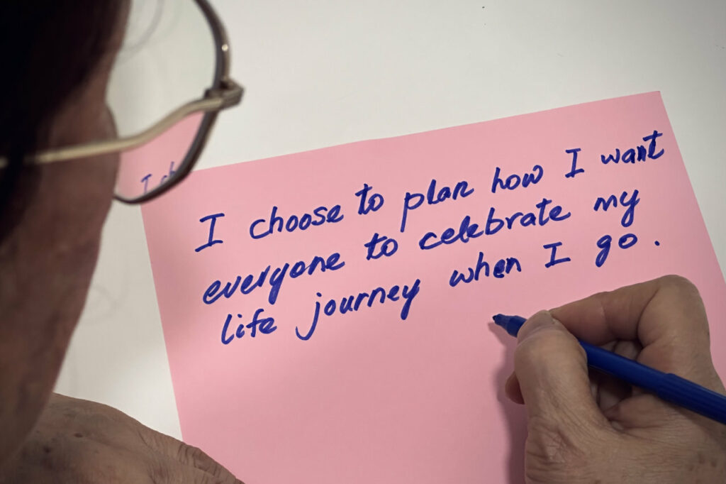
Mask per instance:
[[[203,118],[203,113],[187,116],[147,144],[121,153],[116,196],[134,201],[176,182],[180,169],[190,162]]]

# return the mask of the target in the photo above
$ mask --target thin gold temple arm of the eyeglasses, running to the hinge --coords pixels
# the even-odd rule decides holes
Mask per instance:
[[[28,162],[31,164],[54,163],[56,161],[105,155],[136,148],[150,142],[192,113],[219,111],[239,104],[242,100],[242,92],[242,86],[227,78],[222,81],[220,89],[210,89],[202,99],[182,105],[158,121],[158,123],[133,136],[47,150],[36,154],[36,156],[30,156]],[[5,166],[7,166],[7,159],[0,157],[0,169]]]

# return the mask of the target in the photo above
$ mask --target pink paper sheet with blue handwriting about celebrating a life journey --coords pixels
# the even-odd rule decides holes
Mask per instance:
[[[573,158],[566,150],[575,148],[584,172],[566,177]],[[619,163],[603,164],[600,156],[616,148]],[[497,167],[504,184],[518,174],[518,187],[492,193]],[[533,174],[526,187],[523,174]],[[458,184],[457,199],[423,201],[401,233],[405,195],[425,198],[432,180],[433,201]],[[354,194],[364,184],[372,206],[380,203],[376,193],[385,201],[358,214]],[[597,198],[609,195],[617,206],[595,211]],[[551,202],[540,216],[543,198]],[[634,199],[632,219],[624,217]],[[418,200],[411,195],[409,205]],[[338,204],[339,214],[329,215],[342,216],[338,222],[311,223],[320,221],[318,207],[330,214]],[[269,220],[273,206],[286,222],[295,214],[309,226],[251,238],[250,225]],[[505,217],[523,215],[511,229],[476,236],[492,207],[505,225]],[[224,217],[200,222],[215,214]],[[658,92],[206,169],[144,205],[143,215],[184,440],[251,484],[521,482],[526,422],[502,391],[515,342],[493,327],[497,312],[528,316],[677,273],[701,290],[714,347],[726,344],[726,288]],[[420,249],[428,232],[453,227],[446,240],[456,239],[467,215],[478,225],[465,225],[468,241]],[[266,228],[261,222],[253,233]],[[367,260],[364,244],[374,233],[395,239],[397,251]],[[597,267],[603,235],[613,239]],[[546,267],[555,243],[554,258],[571,260]],[[374,254],[394,245],[379,244]],[[452,287],[454,270],[468,277],[480,251],[489,276],[482,269],[478,281]],[[315,256],[327,270],[318,264],[300,274]],[[286,262],[271,304],[269,277]],[[229,297],[203,302],[238,275]],[[378,287],[399,299],[381,303],[376,291],[370,307],[362,297],[357,311],[340,313],[342,298],[355,304],[347,297]],[[330,299],[335,313],[321,314],[310,334],[316,303],[323,312]],[[263,321],[253,337],[246,325],[258,310]],[[224,344],[228,315],[232,340]],[[723,373],[724,353],[714,358]]]

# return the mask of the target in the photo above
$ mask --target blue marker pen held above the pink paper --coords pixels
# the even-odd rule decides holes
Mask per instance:
[[[517,336],[525,319],[520,316],[494,316],[494,323]],[[578,340],[579,341],[579,340]],[[726,397],[672,373],[663,373],[593,344],[579,341],[587,354],[587,366],[615,376],[635,387],[653,392],[674,405],[687,408],[726,424]]]

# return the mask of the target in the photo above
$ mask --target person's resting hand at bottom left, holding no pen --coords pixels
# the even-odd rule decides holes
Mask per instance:
[[[242,484],[198,448],[115,408],[57,394],[0,483]]]

